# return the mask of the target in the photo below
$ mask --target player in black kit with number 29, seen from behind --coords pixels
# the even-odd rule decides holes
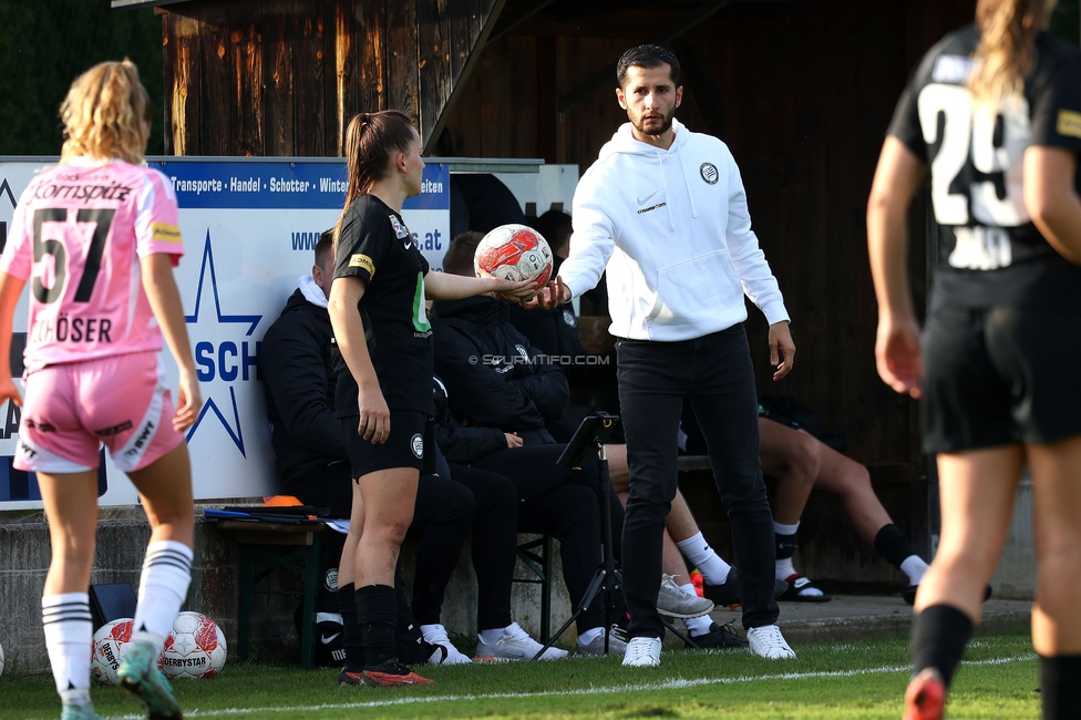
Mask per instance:
[[[941,717],[1026,464],[1043,717],[1081,710],[1081,51],[1041,31],[1053,4],[979,0],[976,24],[924,56],[867,208],[878,373],[923,398],[941,493],[916,596],[913,720]],[[920,338],[905,220],[927,166],[939,251]]]

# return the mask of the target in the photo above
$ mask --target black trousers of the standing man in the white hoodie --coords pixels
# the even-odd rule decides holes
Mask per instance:
[[[773,515],[759,464],[758,395],[742,325],[693,340],[619,340],[619,404],[630,496],[624,523],[624,593],[631,637],[662,638],[657,614],[665,516],[676,496],[683,399],[702,429],[732,525],[743,627],[773,625]]]

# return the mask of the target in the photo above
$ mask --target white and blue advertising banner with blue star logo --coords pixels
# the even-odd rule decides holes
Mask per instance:
[[[0,247],[12,210],[34,172],[55,158],[0,162]],[[334,225],[346,194],[340,160],[168,158],[150,163],[176,191],[184,257],[175,270],[203,392],[187,433],[197,500],[279,492],[258,360],[262,336],[300,276],[311,272],[319,235]],[[423,192],[403,217],[433,269],[450,243],[450,171],[430,162]],[[12,371],[21,372],[28,308],[16,311]],[[176,366],[164,352],[167,382]],[[11,466],[19,409],[0,405],[0,510],[40,507],[33,473]],[[134,486],[106,453],[99,473],[103,505],[136,502]]]

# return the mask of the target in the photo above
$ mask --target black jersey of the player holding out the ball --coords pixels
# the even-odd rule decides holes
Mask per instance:
[[[367,288],[358,304],[368,352],[390,410],[433,415],[432,325],[424,309],[428,260],[402,216],[374,195],[362,195],[346,212],[338,238],[334,277],[356,276]],[[356,415],[357,381],[338,357],[339,418]]]

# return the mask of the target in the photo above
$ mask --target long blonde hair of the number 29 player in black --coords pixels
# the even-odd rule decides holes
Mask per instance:
[[[1036,37],[1058,0],[979,0],[976,27],[980,43],[968,89],[977,104],[997,106],[1025,92],[1036,60]]]

